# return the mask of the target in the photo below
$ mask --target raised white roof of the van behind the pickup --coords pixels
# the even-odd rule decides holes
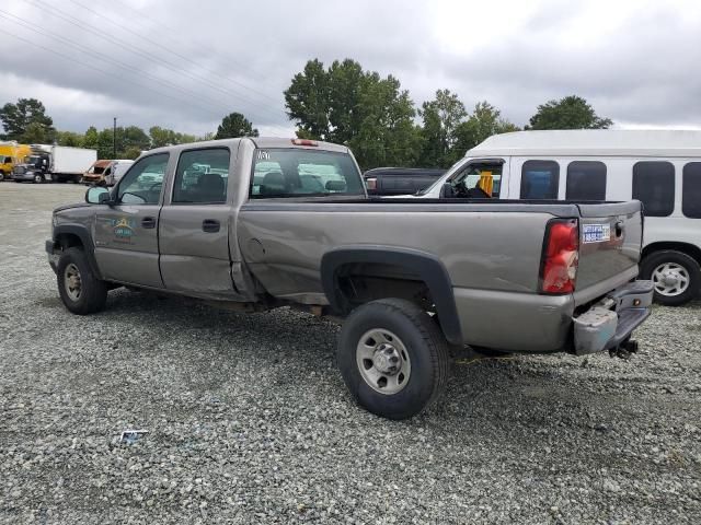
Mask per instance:
[[[701,156],[701,131],[567,129],[494,135],[466,156]]]

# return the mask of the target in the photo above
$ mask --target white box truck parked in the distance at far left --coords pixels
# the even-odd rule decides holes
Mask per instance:
[[[97,160],[96,150],[66,145],[32,144],[32,153],[22,164],[14,166],[15,182],[79,183],[83,173]]]

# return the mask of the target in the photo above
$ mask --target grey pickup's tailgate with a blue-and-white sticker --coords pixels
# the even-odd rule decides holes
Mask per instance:
[[[575,301],[582,304],[637,275],[643,215],[637,200],[577,207],[582,219]]]

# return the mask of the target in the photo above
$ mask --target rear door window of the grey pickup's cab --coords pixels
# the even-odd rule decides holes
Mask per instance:
[[[209,148],[180,154],[173,203],[221,203],[227,201],[229,150]]]

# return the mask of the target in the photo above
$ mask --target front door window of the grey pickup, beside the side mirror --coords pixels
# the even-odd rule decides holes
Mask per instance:
[[[125,205],[158,205],[168,158],[168,153],[159,153],[136,162],[119,184],[117,201]]]

